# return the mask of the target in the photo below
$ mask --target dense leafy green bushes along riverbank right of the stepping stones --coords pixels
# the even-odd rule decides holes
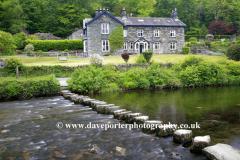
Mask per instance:
[[[127,71],[91,66],[75,70],[68,83],[71,91],[80,93],[239,84],[240,62],[189,55],[171,69],[157,63]]]

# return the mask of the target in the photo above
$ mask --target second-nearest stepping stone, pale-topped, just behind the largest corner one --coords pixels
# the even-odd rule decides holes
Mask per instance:
[[[197,136],[193,139],[192,146],[190,147],[191,153],[202,153],[202,149],[210,146],[210,136]]]

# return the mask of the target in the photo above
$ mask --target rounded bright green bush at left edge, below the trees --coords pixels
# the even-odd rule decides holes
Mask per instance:
[[[0,55],[13,55],[16,46],[10,33],[0,31]]]

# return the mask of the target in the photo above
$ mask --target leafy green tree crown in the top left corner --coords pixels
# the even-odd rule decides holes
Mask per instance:
[[[5,11],[4,26],[11,33],[18,33],[26,28],[26,23],[23,17],[23,10],[18,0],[4,1],[2,8]]]

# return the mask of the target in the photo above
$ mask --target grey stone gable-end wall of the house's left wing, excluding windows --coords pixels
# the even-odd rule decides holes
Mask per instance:
[[[102,34],[101,23],[109,23],[109,34]],[[119,25],[119,22],[114,20],[108,14],[103,14],[87,26],[87,52],[88,56],[91,54],[104,55],[110,52],[102,52],[102,40],[108,40],[108,36]],[[110,46],[111,49],[111,46]]]

